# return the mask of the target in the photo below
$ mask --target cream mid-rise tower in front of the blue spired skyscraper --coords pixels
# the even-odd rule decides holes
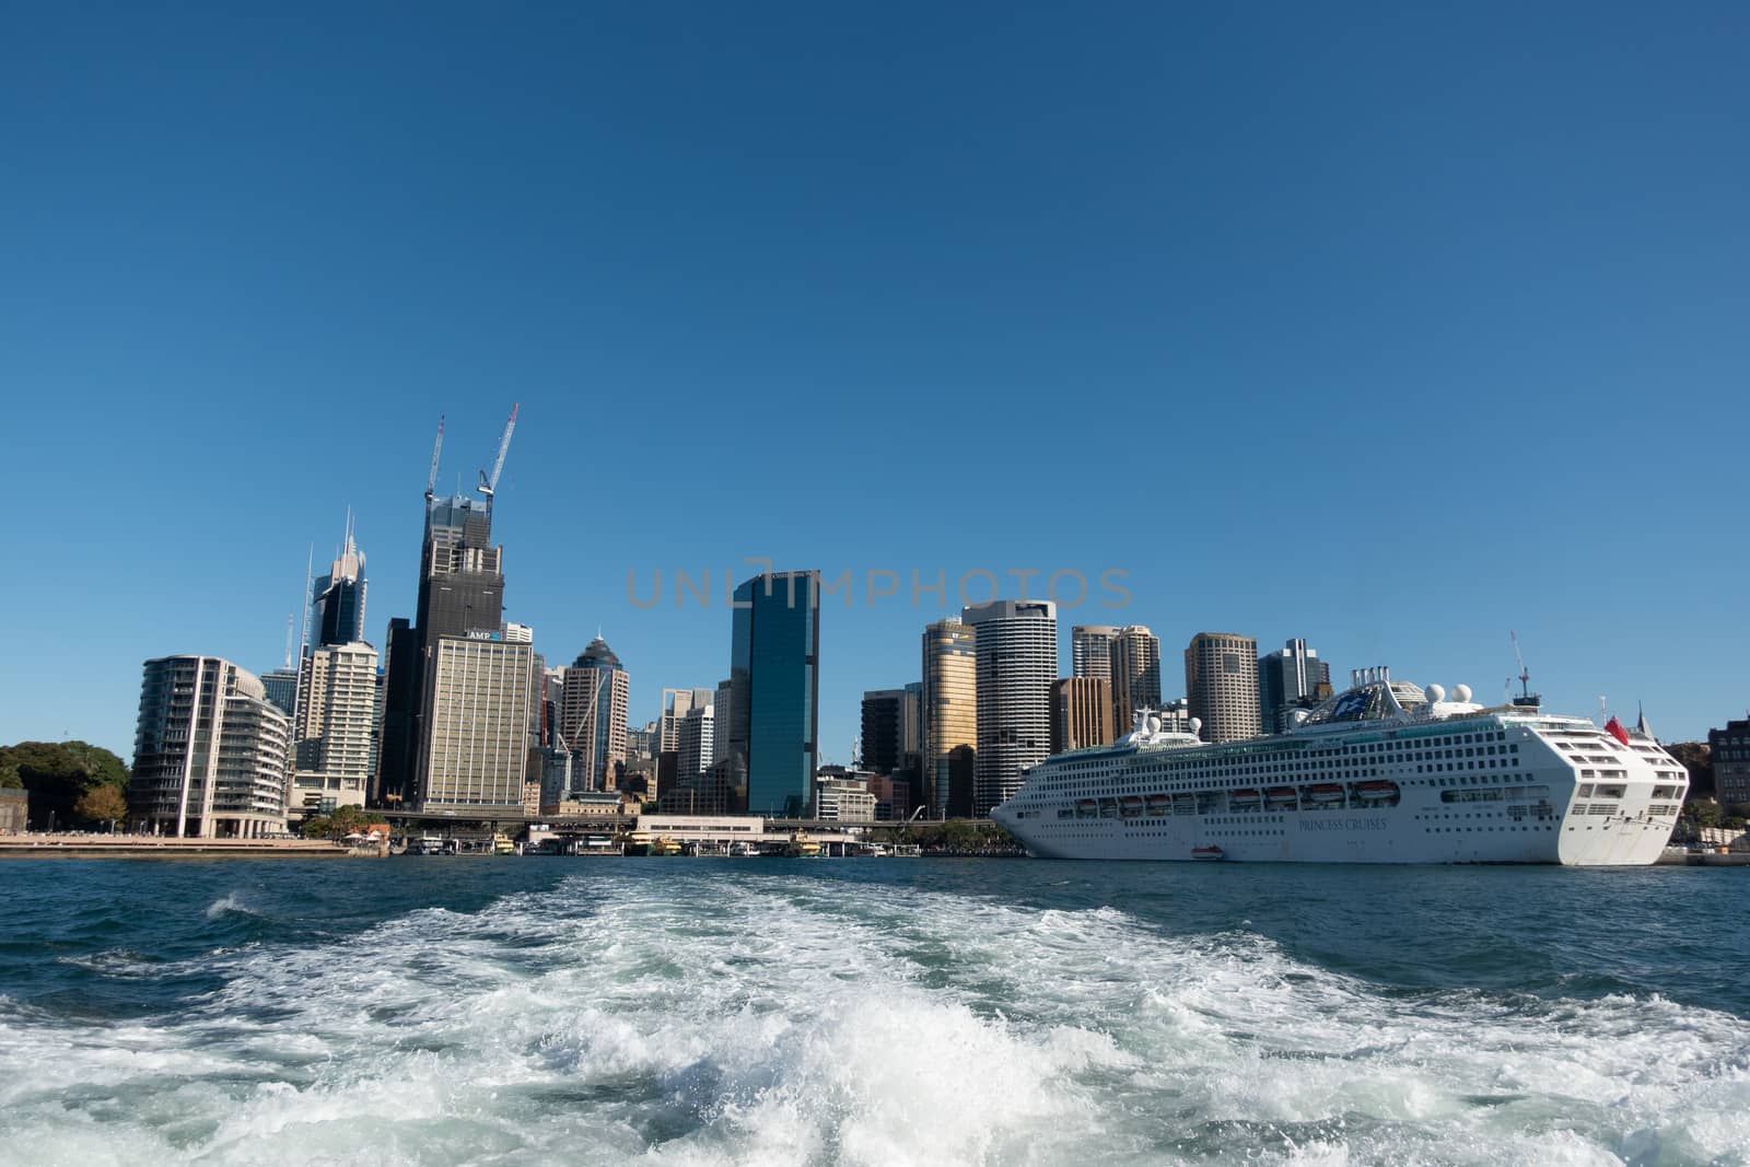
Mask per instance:
[[[304,653],[292,726],[289,814],[303,817],[364,805],[374,723],[376,649],[354,642]]]

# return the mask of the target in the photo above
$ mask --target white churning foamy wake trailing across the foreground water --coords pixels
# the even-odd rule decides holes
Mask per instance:
[[[1113,908],[592,871],[214,959],[224,987],[184,1015],[0,1017],[18,1136],[0,1157],[1684,1164],[1750,1146],[1741,1018],[1384,990],[1250,931],[1176,938]]]

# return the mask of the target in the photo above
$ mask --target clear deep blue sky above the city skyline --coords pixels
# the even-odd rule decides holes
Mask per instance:
[[[744,556],[858,576],[836,761],[912,569],[1129,572],[1064,668],[1146,623],[1169,696],[1220,630],[1498,698],[1516,628],[1743,716],[1750,9],[1442,7],[0,5],[0,742],[276,667],[348,506],[380,640],[513,401],[508,614],[635,723]]]

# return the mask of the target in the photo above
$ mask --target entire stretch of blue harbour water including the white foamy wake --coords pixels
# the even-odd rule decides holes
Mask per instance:
[[[1745,1164],[1750,871],[5,863],[7,1164]]]

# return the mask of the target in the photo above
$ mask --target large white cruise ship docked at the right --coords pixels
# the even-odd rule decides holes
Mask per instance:
[[[990,812],[1045,859],[1648,864],[1689,773],[1642,721],[1600,730],[1536,698],[1486,709],[1386,668],[1286,733],[1208,744],[1143,710],[1046,758]]]

